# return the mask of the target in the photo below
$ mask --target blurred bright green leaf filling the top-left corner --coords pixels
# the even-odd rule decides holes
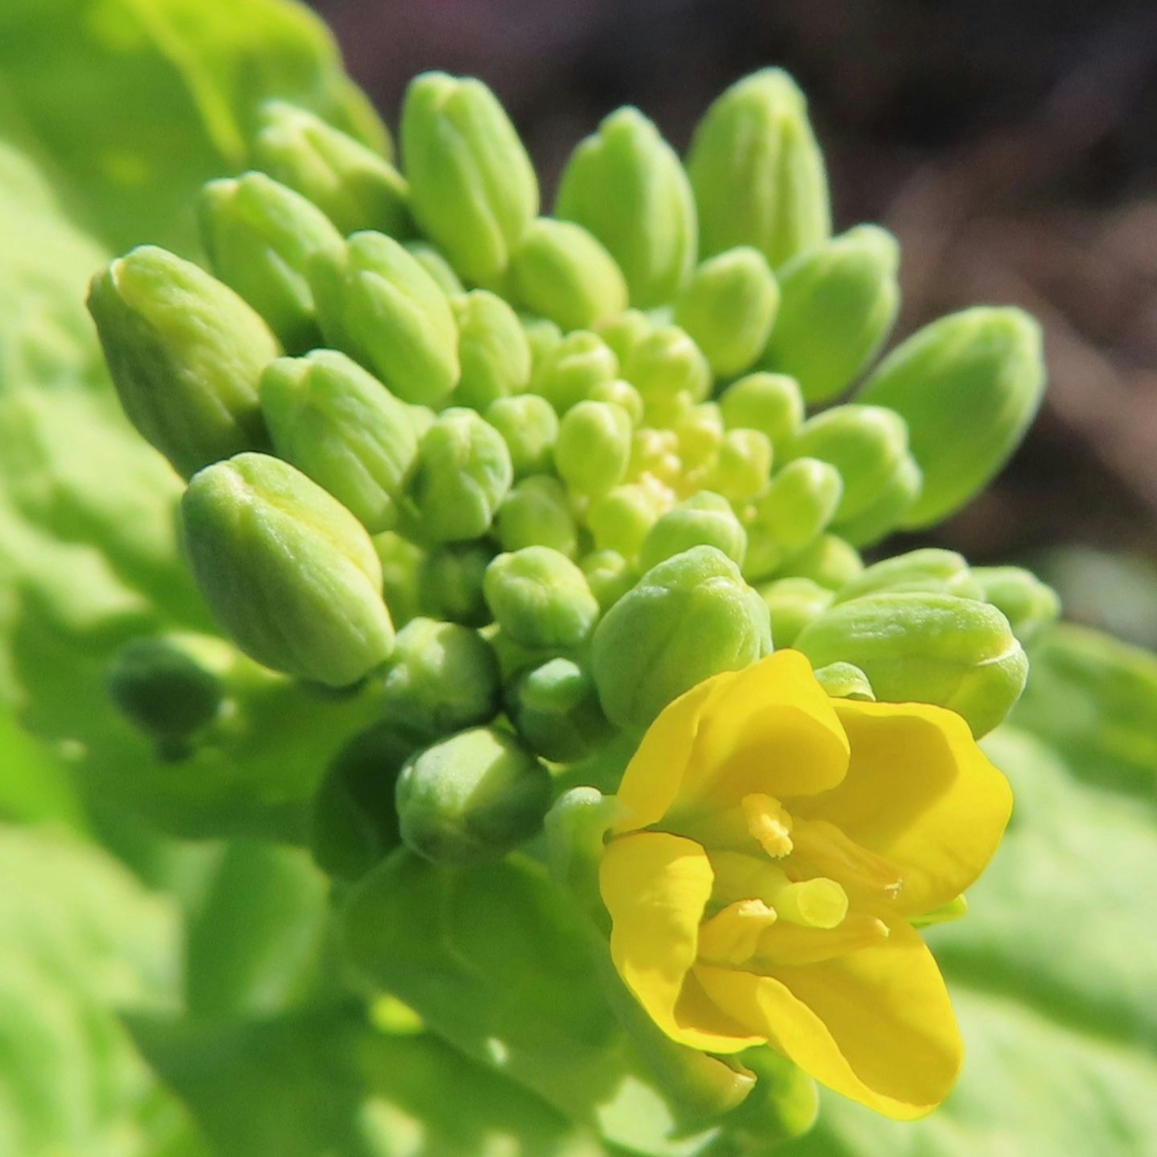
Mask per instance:
[[[0,138],[32,153],[68,214],[113,250],[191,251],[192,193],[244,168],[267,97],[383,140],[329,29],[289,0],[0,6]]]

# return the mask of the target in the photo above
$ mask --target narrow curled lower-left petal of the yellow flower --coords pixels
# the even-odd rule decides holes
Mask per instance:
[[[688,982],[712,892],[710,863],[698,843],[663,832],[612,840],[599,867],[599,890],[612,920],[614,966],[669,1037],[713,1053],[762,1042]]]

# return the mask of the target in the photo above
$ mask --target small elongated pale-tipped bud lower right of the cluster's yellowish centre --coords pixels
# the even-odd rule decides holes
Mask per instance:
[[[753,558],[744,574],[761,578],[813,541],[832,521],[843,494],[840,472],[818,458],[796,458],[772,479],[756,503]],[[758,550],[754,550],[758,543]],[[779,636],[776,636],[779,638]]]

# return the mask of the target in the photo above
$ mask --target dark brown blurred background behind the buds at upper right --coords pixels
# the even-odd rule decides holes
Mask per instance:
[[[1045,410],[935,537],[1036,567],[1069,618],[1157,647],[1157,5],[1152,0],[312,0],[396,126],[426,68],[482,78],[544,180],[620,104],[680,150],[731,81],[789,69],[835,228],[904,246],[896,337],[1010,303],[1045,325]]]

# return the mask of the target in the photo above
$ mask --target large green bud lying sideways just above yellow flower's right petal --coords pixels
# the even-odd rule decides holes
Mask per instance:
[[[795,646],[812,666],[858,666],[884,702],[936,703],[978,738],[1009,713],[1029,661],[994,606],[952,595],[869,595],[832,606]]]

